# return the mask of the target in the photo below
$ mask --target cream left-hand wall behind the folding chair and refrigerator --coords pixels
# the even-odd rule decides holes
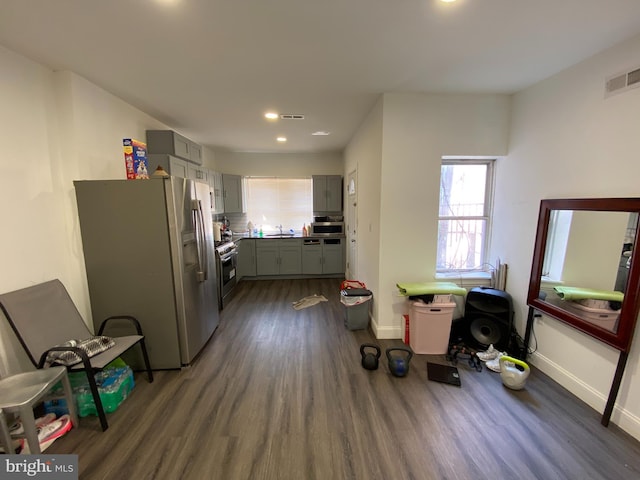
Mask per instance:
[[[92,328],[73,180],[125,178],[122,139],[167,127],[3,47],[0,71],[0,292],[59,278]],[[0,334],[0,374],[31,367],[1,314]]]

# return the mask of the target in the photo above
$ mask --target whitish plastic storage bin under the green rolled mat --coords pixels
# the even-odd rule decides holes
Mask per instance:
[[[409,344],[415,353],[441,355],[449,349],[455,302],[412,302],[409,312]]]

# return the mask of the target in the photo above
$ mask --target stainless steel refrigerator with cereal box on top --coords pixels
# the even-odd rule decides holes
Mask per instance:
[[[73,183],[96,332],[106,317],[133,315],[152,369],[189,365],[219,323],[208,185],[178,177]],[[124,333],[114,328],[105,335]]]

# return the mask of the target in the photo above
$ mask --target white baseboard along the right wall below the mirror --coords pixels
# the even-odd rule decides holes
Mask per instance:
[[[600,412],[600,414],[604,412],[609,395],[608,391],[605,394],[598,392],[557,363],[539,353],[534,353],[529,357],[529,361],[591,408]],[[613,413],[611,414],[611,423],[616,424],[629,435],[640,440],[640,417],[616,405],[613,407]]]

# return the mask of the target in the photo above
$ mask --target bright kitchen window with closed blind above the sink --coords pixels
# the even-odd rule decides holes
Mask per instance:
[[[313,220],[311,178],[246,177],[247,221],[264,232],[302,230]]]

